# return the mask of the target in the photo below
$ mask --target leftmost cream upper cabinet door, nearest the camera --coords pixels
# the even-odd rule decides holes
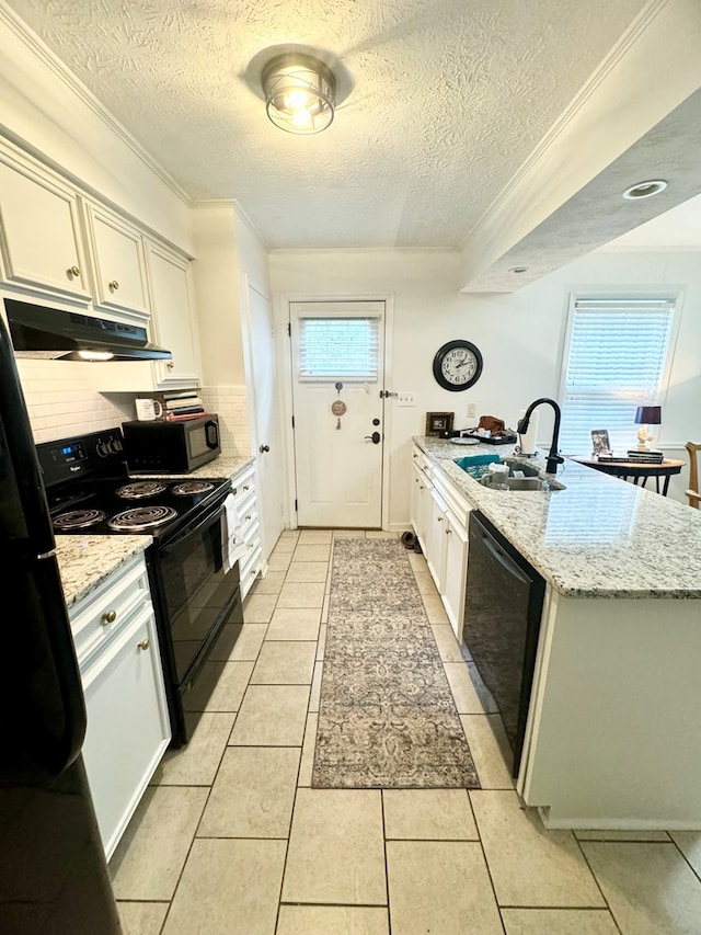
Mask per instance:
[[[5,282],[89,300],[78,195],[0,151],[0,261]]]

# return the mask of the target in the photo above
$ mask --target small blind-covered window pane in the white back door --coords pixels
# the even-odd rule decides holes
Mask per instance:
[[[300,318],[299,379],[377,381],[380,319]]]

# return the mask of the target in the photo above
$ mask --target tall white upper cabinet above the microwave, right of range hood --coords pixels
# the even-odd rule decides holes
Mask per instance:
[[[198,344],[193,315],[189,262],[160,244],[147,241],[151,284],[151,338],[173,355],[153,364],[159,389],[199,383]]]

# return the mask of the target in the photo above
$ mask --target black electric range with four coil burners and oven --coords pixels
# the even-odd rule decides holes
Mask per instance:
[[[173,745],[189,739],[243,623],[239,565],[228,560],[221,478],[129,477],[122,430],[36,446],[56,535],[149,535],[151,600]],[[221,655],[223,653],[223,655]],[[197,691],[195,692],[195,687]],[[185,717],[188,711],[188,717]]]

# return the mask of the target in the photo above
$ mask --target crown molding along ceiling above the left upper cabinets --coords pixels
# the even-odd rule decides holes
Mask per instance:
[[[175,194],[188,207],[192,206],[189,195],[182,189],[173,176],[156,161],[156,159],[145,149],[143,146],[134,137],[129,130],[117,121],[117,118],[97,100],[82,81],[76,76],[60,58],[51,52],[36,33],[32,32],[26,23],[18,16],[14,10],[10,9],[5,0],[0,0],[0,24],[5,25],[25,46],[30,54],[37,59],[41,65],[48,69],[53,77],[60,81],[68,90],[74,94],[80,101],[89,107],[95,116],[117,136],[125,146],[127,146],[141,162]]]

